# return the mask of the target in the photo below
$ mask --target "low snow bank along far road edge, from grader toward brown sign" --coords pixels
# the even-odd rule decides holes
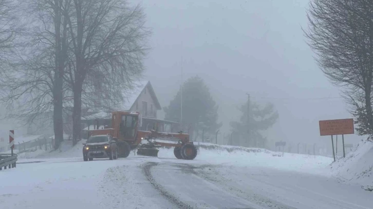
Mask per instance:
[[[244,148],[210,143],[195,143],[198,147],[196,161],[200,163],[227,164],[241,167],[265,166],[268,168],[298,171],[330,176],[328,165],[332,158],[324,156],[302,155],[272,152],[259,148]],[[175,158],[174,149],[163,148],[159,158]]]

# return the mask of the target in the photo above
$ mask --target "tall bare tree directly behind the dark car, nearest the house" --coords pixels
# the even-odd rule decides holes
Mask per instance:
[[[84,95],[121,100],[122,85],[143,72],[147,51],[145,16],[140,6],[123,0],[73,0],[69,15],[69,35],[74,66],[67,81],[73,92],[73,142],[81,138],[81,109]],[[91,83],[91,81],[96,81]],[[95,85],[94,85],[95,84]],[[99,95],[99,88],[107,92]],[[83,94],[85,90],[88,94]]]

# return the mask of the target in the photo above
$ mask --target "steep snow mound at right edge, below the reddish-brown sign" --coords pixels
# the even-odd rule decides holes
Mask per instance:
[[[360,142],[354,152],[331,164],[333,176],[343,182],[362,185],[373,189],[373,143]]]

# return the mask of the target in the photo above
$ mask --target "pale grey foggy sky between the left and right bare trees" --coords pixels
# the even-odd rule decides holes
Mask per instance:
[[[162,107],[184,80],[199,75],[219,104],[222,133],[238,120],[247,100],[271,101],[279,119],[266,134],[274,141],[330,145],[320,137],[319,120],[350,118],[340,89],[315,64],[301,27],[307,27],[308,0],[134,1],[145,8],[153,29],[145,60]],[[266,98],[262,98],[266,97]],[[267,98],[291,99],[267,99]],[[348,135],[346,143],[363,137]]]

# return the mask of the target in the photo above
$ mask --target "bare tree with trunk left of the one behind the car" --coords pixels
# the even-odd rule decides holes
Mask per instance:
[[[28,27],[22,33],[17,62],[1,79],[2,101],[13,108],[10,116],[40,119],[53,111],[55,149],[63,140],[63,77],[67,59],[67,19],[69,0],[25,1],[21,10],[31,13],[23,19]],[[14,103],[17,103],[14,106]]]

